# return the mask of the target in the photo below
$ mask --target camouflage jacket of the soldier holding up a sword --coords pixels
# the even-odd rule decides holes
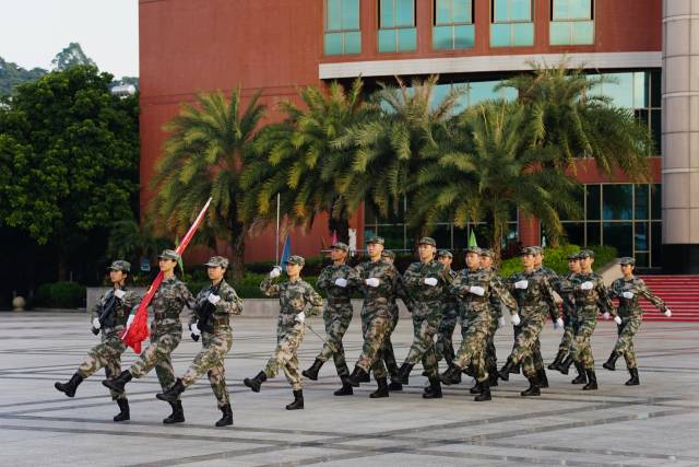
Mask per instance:
[[[260,284],[260,290],[266,296],[279,296],[280,317],[276,323],[277,336],[287,332],[298,326],[303,329],[303,324],[296,320],[296,315],[304,312],[305,315],[316,316],[323,310],[323,299],[313,288],[303,279],[287,280],[281,283],[273,283],[272,279],[265,278]],[[308,313],[306,306],[309,305]]]

